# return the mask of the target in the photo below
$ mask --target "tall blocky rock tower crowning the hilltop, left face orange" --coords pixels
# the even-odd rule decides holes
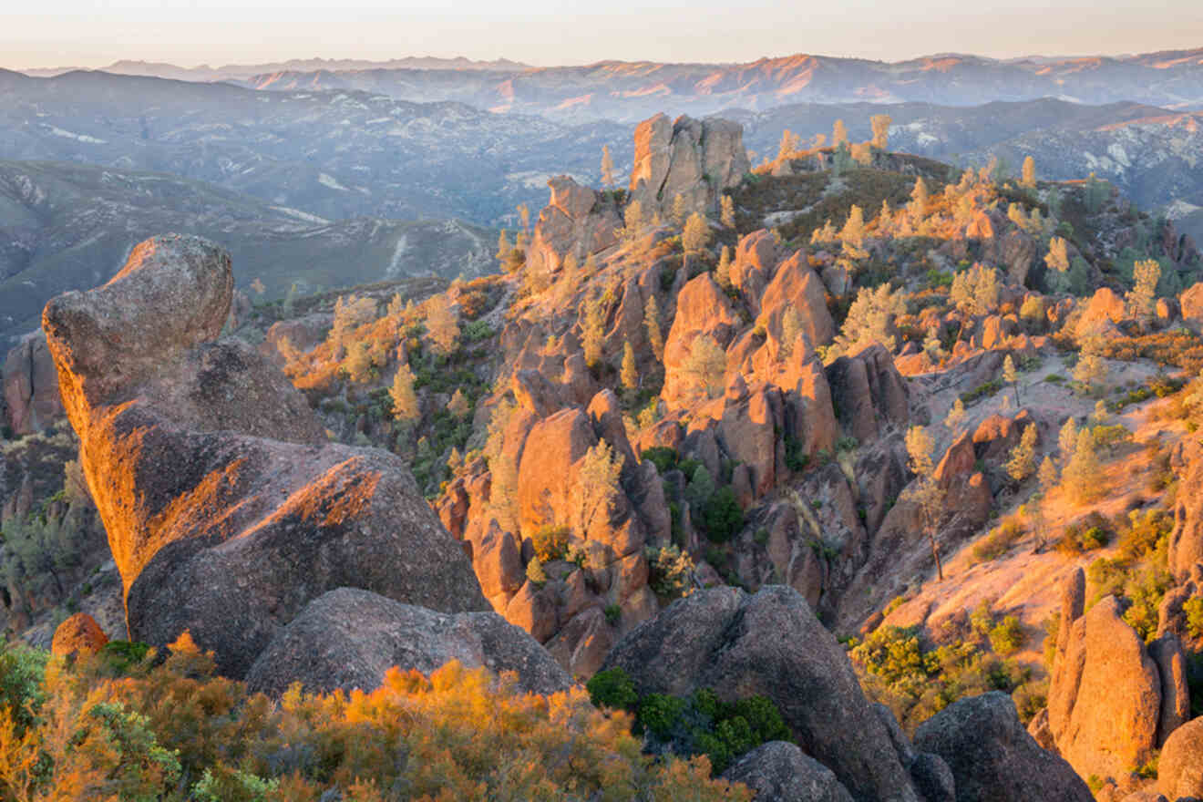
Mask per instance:
[[[670,121],[657,114],[635,127],[630,200],[648,216],[670,212],[677,195],[689,209],[712,208],[722,190],[735,186],[751,170],[739,123],[687,115]]]

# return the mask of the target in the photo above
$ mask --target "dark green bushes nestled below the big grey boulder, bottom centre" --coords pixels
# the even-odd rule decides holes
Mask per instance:
[[[689,696],[647,694],[640,697],[622,669],[599,671],[587,683],[594,705],[634,712],[635,731],[656,754],[706,755],[715,773],[768,741],[790,741],[777,706],[764,696],[723,702],[713,690]]]

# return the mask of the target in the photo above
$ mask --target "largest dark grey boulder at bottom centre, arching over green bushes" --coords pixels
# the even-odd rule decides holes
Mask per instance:
[[[623,637],[603,667],[615,666],[641,694],[768,696],[854,798],[919,798],[843,648],[792,588],[695,592]]]

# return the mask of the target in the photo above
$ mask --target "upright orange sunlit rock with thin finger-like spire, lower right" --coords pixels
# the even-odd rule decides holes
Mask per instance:
[[[1120,778],[1148,762],[1190,709],[1183,659],[1177,641],[1146,648],[1113,596],[1083,613],[1084,592],[1079,568],[1062,586],[1048,731],[1083,777]]]

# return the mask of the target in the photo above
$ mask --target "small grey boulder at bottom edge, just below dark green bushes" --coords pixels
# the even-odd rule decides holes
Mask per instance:
[[[784,741],[760,744],[731,764],[723,778],[751,788],[757,802],[853,802],[831,770]]]

